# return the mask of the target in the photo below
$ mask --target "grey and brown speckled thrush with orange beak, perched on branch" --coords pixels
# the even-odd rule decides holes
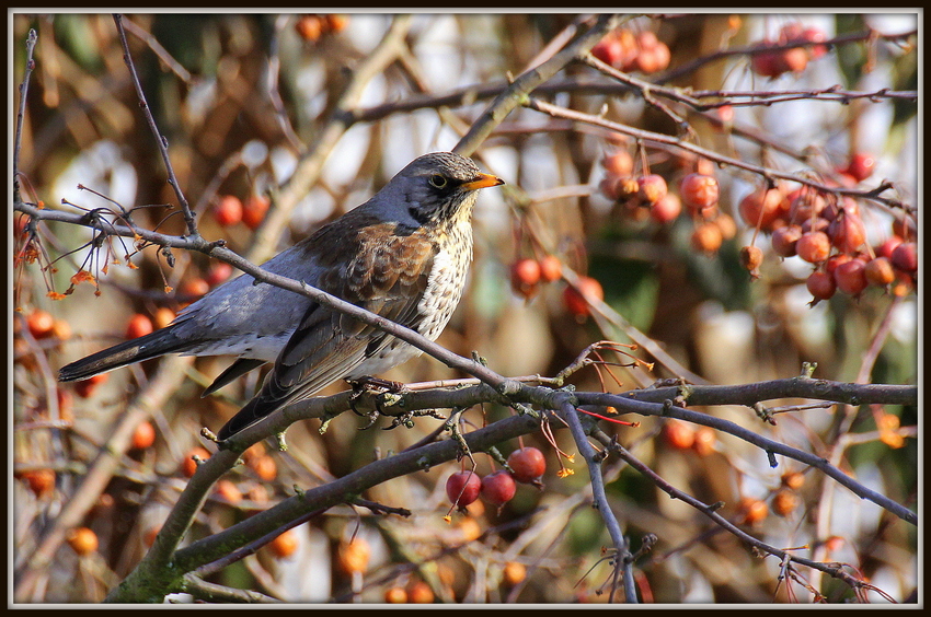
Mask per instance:
[[[436,340],[465,287],[478,189],[502,184],[465,156],[424,154],[368,201],[262,267]],[[204,396],[274,362],[255,396],[217,433],[222,442],[333,382],[377,375],[422,351],[307,296],[240,275],[165,327],[71,362],[58,379],[84,380],[165,353],[238,356]]]

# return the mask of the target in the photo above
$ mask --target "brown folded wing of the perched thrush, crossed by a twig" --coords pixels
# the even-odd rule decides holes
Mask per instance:
[[[419,231],[398,232],[394,223],[377,223],[357,230],[352,237],[344,236],[343,244],[321,258],[318,287],[414,328],[423,318],[417,305],[427,288],[435,246]],[[390,340],[372,326],[312,303],[262,391],[223,427],[219,438],[346,376]]]

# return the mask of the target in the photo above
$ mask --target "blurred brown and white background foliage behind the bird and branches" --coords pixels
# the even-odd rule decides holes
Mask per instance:
[[[255,249],[254,230],[269,196],[274,208],[276,187],[292,173],[301,149],[313,144],[324,130],[338,96],[391,19],[382,14],[126,15],[134,26],[129,45],[140,82],[206,238],[225,238],[240,254]],[[387,110],[345,132],[326,159],[321,179],[298,202],[271,248],[278,251],[363,202],[414,156],[451,149],[487,100],[455,107],[426,105],[416,110],[402,109],[401,104],[422,92],[441,95],[476,84],[504,85],[505,75],[525,70],[576,19],[572,14],[415,15],[402,60],[375,75],[361,96],[361,110],[388,106]],[[139,113],[113,19],[103,14],[15,14],[12,22],[10,88],[22,80],[27,31],[38,33],[21,152],[25,200],[43,200],[47,208],[71,211],[73,206],[62,205],[62,199],[87,209],[112,207],[79,190],[81,184],[124,208],[145,206],[134,212],[137,224],[183,233],[175,196]],[[917,28],[913,14],[703,14],[637,18],[625,27],[654,32],[668,46],[669,69],[675,71],[721,48],[774,39],[779,30],[791,23],[816,27],[827,38]],[[729,56],[681,73],[669,84],[732,91],[811,92],[836,83],[853,91],[917,90],[916,39],[838,45],[804,71],[772,80],[755,74],[746,56]],[[582,65],[571,65],[561,74],[579,80],[597,77],[594,69]],[[650,80],[655,75],[641,77]],[[596,81],[611,83],[605,75]],[[607,86],[601,91],[566,88],[545,98],[579,112],[604,112],[608,119],[629,126],[676,135],[669,117],[645,105],[635,91],[624,95]],[[881,178],[889,178],[898,198],[917,206],[915,102],[878,97],[840,105],[814,98],[738,106],[729,121],[757,130],[791,151],[811,153],[813,167],[826,173],[842,168],[854,153],[869,151],[875,156],[875,171],[861,186],[872,188]],[[696,115],[686,118],[699,143],[723,155],[788,172],[803,168],[798,159],[777,149],[736,138]],[[917,382],[913,290],[897,295],[871,287],[860,298],[838,293],[809,306],[805,278],[811,266],[798,257],[779,258],[762,235],[755,241],[766,252],[761,277],[751,281],[740,265],[739,249],[754,242],[755,234],[738,216],[737,205],[761,186],[761,178],[727,166],[715,171],[720,209],[737,221],[738,229],[720,251],[709,255],[694,247],[693,222],[687,216],[657,224],[648,218],[627,216],[622,205],[599,191],[605,177],[599,162],[618,150],[639,158],[633,142],[623,137],[526,108],[517,109],[498,127],[475,158],[505,178],[509,188],[483,191],[480,197],[471,282],[440,344],[467,357],[475,350],[502,374],[554,375],[596,340],[627,342],[624,327],[618,323],[572,314],[564,304],[562,281],[540,283],[526,294],[512,289],[515,261],[554,255],[563,267],[599,281],[613,311],[709,382],[737,384],[794,376],[804,361],[818,362],[817,377]],[[694,164],[683,154],[674,148],[646,148],[651,171],[664,176],[674,191]],[[553,194],[559,187],[567,189]],[[239,203],[242,213],[238,218],[235,212],[223,211],[229,202]],[[894,217],[866,200],[859,206],[867,243],[880,246],[892,233]],[[226,216],[232,216],[232,222]],[[14,224],[21,225],[20,219],[14,216]],[[18,269],[14,278],[15,307],[21,310],[12,322],[16,333],[13,463],[19,480],[14,486],[13,540],[18,568],[80,487],[82,470],[157,363],[114,372],[92,392],[56,384],[57,369],[123,339],[134,315],[143,315],[158,326],[159,319],[229,276],[203,255],[176,251],[170,267],[154,248],[133,255],[136,267],[129,268],[125,254],[133,248],[125,240],[111,243],[112,264],[104,272],[101,264],[93,268],[87,261],[92,255],[87,246],[89,230],[44,222],[39,233],[48,256],[58,259],[57,271],[41,272],[33,264]],[[67,299],[51,301],[47,292],[64,291],[80,268],[92,270],[100,296],[94,295],[93,286],[80,284]],[[50,314],[56,329],[32,331],[28,318],[36,312]],[[880,340],[882,349],[872,370],[861,374],[881,326],[887,330]],[[138,444],[145,447],[125,454],[119,473],[87,512],[83,525],[96,535],[99,548],[84,550],[78,539],[70,547],[62,546],[30,601],[100,601],[106,589],[128,573],[184,485],[182,462],[198,444],[200,427],[222,424],[261,379],[250,375],[218,396],[200,399],[204,385],[229,361],[198,359],[192,365],[168,405],[154,411],[150,426],[154,428],[153,442],[146,445],[142,439]],[[648,383],[639,383],[634,371],[625,368],[612,372],[617,382],[604,370],[593,369],[577,373],[571,382],[579,389],[613,392]],[[463,375],[422,357],[383,376],[413,382]],[[650,379],[670,376],[675,372],[657,363]],[[343,388],[344,384],[334,384],[323,394]],[[761,426],[746,407],[708,411],[796,447],[830,455],[859,481],[916,507],[915,431],[897,440],[899,433],[889,436],[877,426],[894,417],[893,432],[899,426],[915,427],[915,408],[834,406],[780,416],[775,427]],[[478,427],[509,412],[486,406],[469,410],[464,417]],[[791,461],[781,459],[780,466],[771,469],[765,453],[729,435],[699,435],[701,431],[694,427],[679,427],[682,434],[670,434],[675,431],[664,429],[660,420],[628,419],[641,423],[609,428],[673,485],[706,503],[725,501],[723,513],[770,544],[807,546],[800,550],[817,559],[850,563],[899,602],[915,597],[915,528]],[[187,540],[268,508],[292,494],[294,486],[315,486],[377,456],[403,450],[438,426],[425,418],[413,429],[359,431],[364,423],[364,419],[341,417],[331,422],[325,435],[318,433],[315,422],[292,427],[288,452],[261,449],[264,452],[248,458],[225,487],[218,485]],[[838,427],[844,431],[840,445]],[[566,431],[558,431],[556,440],[563,451],[575,452]],[[696,440],[705,440],[706,447]],[[459,469],[449,464],[391,480],[365,496],[412,510],[410,519],[335,508],[289,532],[290,544],[285,543],[284,548],[263,548],[210,580],[257,589],[290,602],[345,602],[354,592],[364,602],[384,602],[401,597],[398,590],[409,602],[605,602],[607,594],[601,592],[610,580],[610,569],[600,549],[609,538],[590,508],[584,467],[579,462],[564,462],[575,474],[559,477],[556,452],[542,435],[529,435],[524,443],[547,454],[545,488],[521,485],[516,498],[499,511],[480,501],[470,505],[467,514],[453,513],[452,524],[444,522],[449,509],[445,481]],[[501,444],[505,456],[516,447],[516,443]],[[482,475],[496,465],[485,455],[478,455],[476,462]],[[791,484],[792,478],[797,479],[793,474],[803,478],[797,486]],[[789,592],[785,583],[778,584],[774,558],[758,558],[630,468],[609,461],[606,475],[612,480],[610,498],[631,534],[633,549],[644,534],[659,536],[657,547],[639,563],[644,599],[813,601],[797,582]],[[748,516],[750,502],[767,504],[769,515]],[[370,558],[364,568],[354,569],[346,564],[346,547],[358,549],[359,538]],[[805,577],[831,602],[853,598],[842,584],[821,581],[813,572]],[[873,592],[869,597],[882,601]]]

